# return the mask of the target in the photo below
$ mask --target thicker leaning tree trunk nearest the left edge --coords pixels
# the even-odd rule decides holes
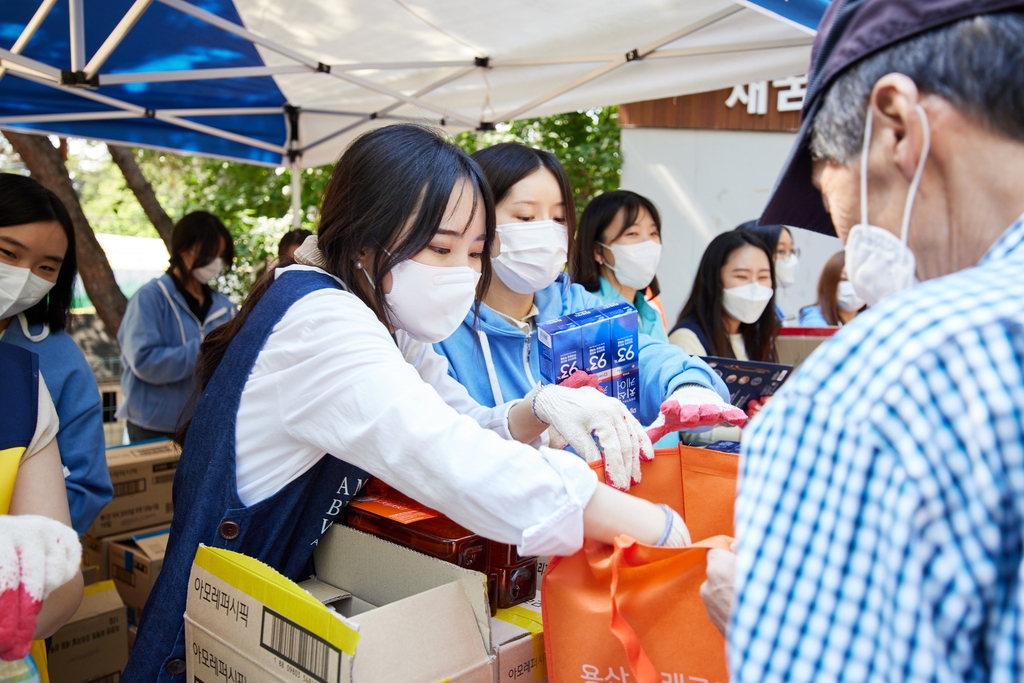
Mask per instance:
[[[116,337],[128,300],[118,288],[106,254],[96,241],[82,211],[78,195],[68,176],[68,168],[60,159],[60,152],[42,135],[26,135],[8,130],[4,131],[4,136],[29,167],[32,177],[53,191],[71,214],[75,225],[75,254],[78,257],[78,272],[82,276],[82,284],[96,307],[96,314],[103,321],[111,335]]]

